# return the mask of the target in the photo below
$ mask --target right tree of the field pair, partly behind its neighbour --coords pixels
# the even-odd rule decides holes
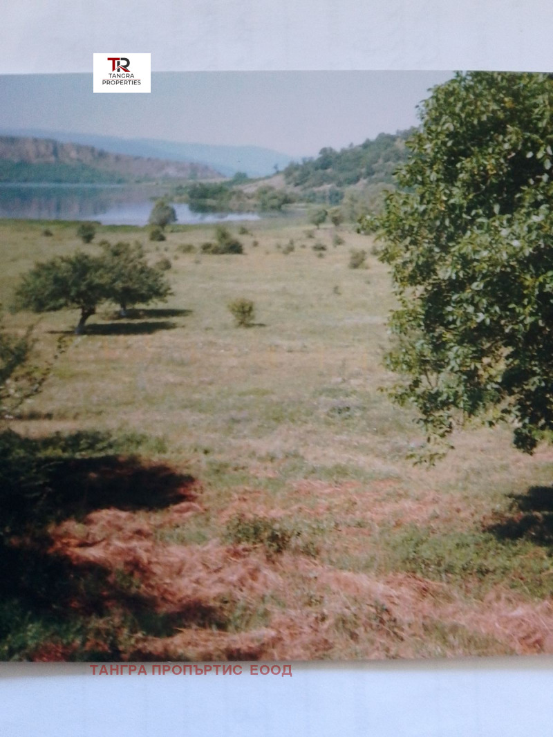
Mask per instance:
[[[147,264],[144,249],[139,243],[107,243],[102,250],[106,295],[119,305],[122,317],[131,305],[165,300],[170,295],[167,280],[158,268]]]

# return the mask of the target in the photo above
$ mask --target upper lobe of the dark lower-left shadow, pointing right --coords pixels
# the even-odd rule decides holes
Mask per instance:
[[[49,438],[0,436],[1,520],[16,531],[40,529],[97,509],[167,509],[195,498],[194,478],[167,464],[150,463],[122,447],[110,433],[79,431]]]

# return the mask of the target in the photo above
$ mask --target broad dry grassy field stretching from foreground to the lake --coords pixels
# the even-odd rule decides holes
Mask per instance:
[[[199,253],[208,226],[159,244],[98,228],[167,256],[174,296],[129,318],[102,307],[11,422],[63,464],[57,508],[2,553],[0,657],[553,652],[551,448],[530,458],[506,429],[475,427],[414,467],[417,425],[379,391],[393,298],[371,240],[340,228],[335,246],[334,228],[299,219],[248,228],[242,256]],[[79,247],[98,250],[75,223],[0,221],[0,300],[37,259]],[[352,248],[366,268],[348,268]],[[256,307],[247,329],[227,309],[240,297]],[[76,321],[42,315],[38,355]]]

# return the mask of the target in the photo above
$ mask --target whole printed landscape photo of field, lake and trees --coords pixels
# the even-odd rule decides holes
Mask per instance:
[[[552,75],[0,100],[0,660],[553,653]]]

